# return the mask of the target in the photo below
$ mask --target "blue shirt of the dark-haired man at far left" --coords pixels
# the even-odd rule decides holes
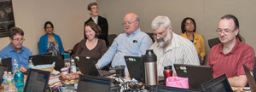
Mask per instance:
[[[22,46],[20,49],[20,52],[18,53],[17,51],[15,51],[15,49],[12,48],[11,44],[9,43],[8,46],[6,46],[5,48],[3,48],[0,51],[0,57],[1,59],[5,59],[5,58],[12,58],[12,64],[14,63],[14,60],[17,61],[17,63],[19,64],[19,68],[21,66],[28,66],[28,59],[29,56],[32,55],[32,52],[30,51],[30,49],[27,49],[26,47]]]

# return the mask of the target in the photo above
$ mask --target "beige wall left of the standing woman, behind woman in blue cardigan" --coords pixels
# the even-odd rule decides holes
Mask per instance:
[[[96,0],[13,0],[15,26],[24,32],[23,46],[38,54],[38,41],[45,34],[44,23],[51,21],[55,34],[61,37],[65,50],[73,49],[84,38],[84,21],[90,18],[87,5]],[[9,44],[9,37],[0,38],[0,49]]]

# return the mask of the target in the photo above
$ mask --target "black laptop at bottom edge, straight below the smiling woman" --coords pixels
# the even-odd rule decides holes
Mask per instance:
[[[110,92],[112,79],[79,75],[77,92]]]

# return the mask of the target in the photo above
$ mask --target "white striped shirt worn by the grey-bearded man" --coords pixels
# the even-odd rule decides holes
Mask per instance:
[[[153,49],[154,54],[157,56],[158,76],[164,76],[164,66],[172,66],[172,71],[176,72],[173,64],[198,66],[200,64],[195,45],[187,38],[181,37],[174,32],[172,32],[172,43],[166,48],[164,53],[157,42],[154,42],[150,49]]]

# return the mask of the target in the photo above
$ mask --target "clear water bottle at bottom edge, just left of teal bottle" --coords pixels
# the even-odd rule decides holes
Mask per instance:
[[[7,83],[9,84],[8,92],[15,92],[15,81],[12,72],[8,72]]]

